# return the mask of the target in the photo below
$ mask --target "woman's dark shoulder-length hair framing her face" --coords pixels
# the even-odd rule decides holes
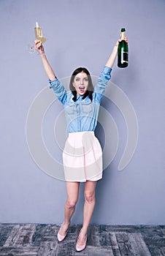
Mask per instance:
[[[88,90],[85,91],[85,94],[82,97],[82,99],[85,99],[85,97],[88,96],[92,101],[93,83],[92,83],[90,72],[88,72],[88,69],[85,69],[85,67],[78,67],[72,73],[72,77],[71,77],[71,80],[70,80],[70,83],[69,83],[69,89],[72,91],[72,94],[74,96],[72,99],[74,100],[74,102],[77,100],[77,91],[75,91],[75,88],[73,86],[73,81],[74,81],[75,75],[77,75],[80,72],[85,72],[88,75]]]

